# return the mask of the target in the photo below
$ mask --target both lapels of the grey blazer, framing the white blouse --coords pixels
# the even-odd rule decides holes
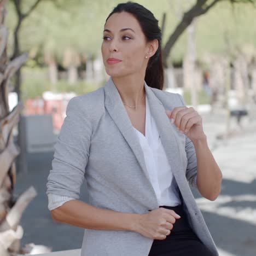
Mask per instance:
[[[161,137],[162,146],[165,149],[168,161],[170,162],[172,172],[176,181],[179,184],[181,176],[179,175],[179,171],[181,170],[181,156],[179,154],[179,146],[177,142],[177,135],[174,131],[175,127],[174,124],[171,124],[170,119],[167,117],[165,108],[162,105],[162,102],[159,100],[158,97],[155,96],[152,88],[147,85],[144,81],[144,88],[148,97],[148,104],[150,108],[150,112],[153,115],[155,120],[156,126],[158,127],[159,135]],[[145,176],[150,183],[150,187],[152,188],[153,192],[154,189],[151,185],[147,167],[144,160],[143,151],[141,145],[139,144],[139,140],[135,131],[133,130],[133,126],[129,115],[126,112],[124,104],[121,100],[120,94],[115,86],[112,77],[109,78],[107,83],[104,85],[105,91],[105,107],[108,110],[110,117],[112,117],[115,124],[118,126],[118,129],[124,136],[126,142],[129,144],[133,154],[142,168]],[[153,193],[155,196],[155,202],[157,205],[157,197],[156,194]],[[158,207],[158,206],[156,206]]]

